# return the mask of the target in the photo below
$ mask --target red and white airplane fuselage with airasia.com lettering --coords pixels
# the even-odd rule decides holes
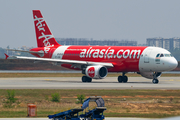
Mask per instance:
[[[42,58],[111,62],[114,67],[108,68],[109,72],[163,72],[172,70],[177,65],[176,59],[169,51],[158,47],[57,46],[34,48],[32,51],[44,51],[44,56],[33,54]],[[158,54],[164,56],[156,57]],[[71,64],[61,66],[78,70]]]

